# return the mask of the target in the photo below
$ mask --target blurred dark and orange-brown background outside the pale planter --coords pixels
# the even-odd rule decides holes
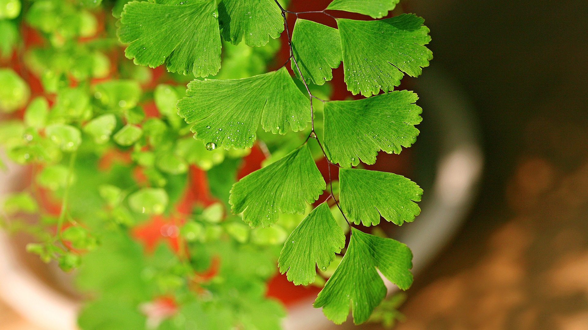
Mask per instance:
[[[405,8],[426,18],[432,66],[472,100],[486,164],[466,223],[417,275],[397,329],[588,329],[588,1]],[[35,329],[1,302],[0,328]]]

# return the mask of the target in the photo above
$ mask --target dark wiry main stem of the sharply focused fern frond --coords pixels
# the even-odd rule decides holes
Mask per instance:
[[[339,211],[341,212],[341,214],[343,214],[343,218],[345,218],[345,221],[347,221],[347,224],[349,225],[349,227],[351,227],[349,220],[345,216],[345,213],[343,213],[342,208],[339,206],[339,201],[336,200],[335,195],[333,195],[333,180],[331,179],[330,167],[331,167],[331,165],[336,166],[336,164],[333,164],[332,161],[329,160],[329,157],[327,156],[325,149],[323,148],[322,143],[320,143],[319,137],[316,135],[316,132],[315,132],[315,114],[314,114],[314,109],[313,109],[313,105],[312,105],[312,99],[315,98],[315,99],[320,100],[322,102],[326,102],[326,101],[323,99],[319,99],[319,97],[312,95],[312,93],[310,92],[310,89],[308,87],[308,83],[306,83],[306,79],[304,79],[304,76],[302,75],[302,71],[300,70],[300,67],[298,66],[298,62],[296,61],[296,58],[294,58],[294,48],[292,46],[292,36],[290,36],[290,30],[288,28],[288,20],[286,19],[286,13],[288,12],[290,14],[295,14],[297,19],[298,19],[298,14],[305,14],[305,13],[311,13],[311,12],[322,13],[322,14],[325,14],[325,15],[332,17],[333,19],[336,19],[336,18],[335,18],[335,16],[327,14],[325,12],[326,9],[322,10],[322,11],[308,11],[308,12],[286,11],[282,7],[282,5],[280,5],[278,0],[274,0],[274,1],[276,2],[276,5],[278,5],[278,7],[280,8],[280,11],[282,11],[282,17],[284,18],[284,26],[286,29],[286,34],[288,35],[288,47],[290,48],[289,60],[292,60],[292,63],[294,63],[294,65],[296,66],[296,71],[298,72],[298,75],[300,76],[300,80],[302,80],[302,83],[304,84],[304,87],[306,88],[306,92],[308,92],[308,99],[310,100],[310,128],[311,128],[311,130],[310,130],[309,136],[306,137],[306,140],[304,143],[308,142],[308,140],[312,137],[313,139],[316,140],[316,143],[319,144],[320,150],[323,152],[323,156],[325,156],[325,159],[327,160],[327,169],[329,171],[329,186],[330,186],[329,197],[333,197],[333,200],[335,201],[335,204],[337,204]],[[286,63],[288,63],[288,62],[286,61]],[[284,63],[284,65],[286,65],[286,63]],[[329,199],[329,197],[327,198],[327,200]]]

